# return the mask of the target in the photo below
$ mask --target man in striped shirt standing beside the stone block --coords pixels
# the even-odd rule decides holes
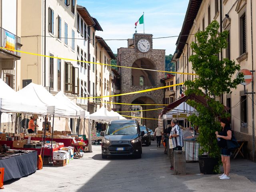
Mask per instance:
[[[171,121],[172,130],[169,136],[169,146],[172,149],[172,160],[171,170],[173,170],[174,151],[182,151],[183,147],[183,132],[182,129],[177,125],[177,120],[172,119]]]

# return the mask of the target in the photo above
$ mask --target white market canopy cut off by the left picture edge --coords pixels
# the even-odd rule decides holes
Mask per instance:
[[[18,95],[2,79],[0,79],[0,90],[0,112],[46,114],[45,104],[30,100],[27,95]]]

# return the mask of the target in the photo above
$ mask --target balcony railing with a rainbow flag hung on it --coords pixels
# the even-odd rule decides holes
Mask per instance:
[[[7,52],[9,54],[12,54],[14,56],[17,56],[20,58],[20,37],[12,34],[11,32],[5,30],[4,28],[0,27],[0,47],[2,48],[8,48],[12,50],[7,49],[1,49],[1,51]],[[18,50],[18,51],[13,51]]]

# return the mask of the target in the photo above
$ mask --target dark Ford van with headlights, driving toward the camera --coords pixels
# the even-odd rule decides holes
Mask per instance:
[[[140,126],[136,120],[112,120],[108,124],[102,140],[102,159],[107,156],[133,155],[141,158],[142,140],[144,131],[140,131]]]

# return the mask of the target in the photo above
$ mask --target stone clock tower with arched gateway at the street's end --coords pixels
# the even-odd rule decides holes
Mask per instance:
[[[163,86],[160,79],[164,78],[165,50],[153,49],[153,35],[135,33],[128,39],[128,47],[118,49],[117,64],[127,68],[118,68],[120,72],[120,93],[129,93],[139,90],[157,88]],[[132,116],[141,125],[151,129],[157,127],[158,115],[162,108],[164,91],[162,89],[138,94],[130,94],[118,98],[120,103],[132,105],[120,105],[120,111],[128,111],[123,115]],[[154,104],[154,105],[150,105]]]

